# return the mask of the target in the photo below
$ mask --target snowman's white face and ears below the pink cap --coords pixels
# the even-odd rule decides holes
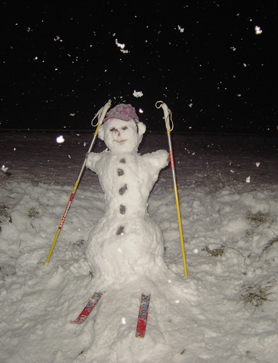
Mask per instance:
[[[145,131],[142,122],[109,118],[99,127],[99,137],[112,153],[136,152]]]

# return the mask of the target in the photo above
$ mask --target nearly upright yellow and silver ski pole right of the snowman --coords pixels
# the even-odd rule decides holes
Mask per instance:
[[[158,103],[161,103],[161,104],[159,106],[157,106]],[[169,154],[170,154],[171,168],[172,168],[173,181],[174,181],[174,191],[175,191],[176,206],[177,206],[177,221],[178,221],[182,261],[183,261],[183,268],[184,268],[184,276],[187,276],[184,242],[183,242],[183,235],[182,235],[182,225],[181,225],[178,194],[177,194],[176,172],[175,172],[175,164],[174,164],[172,141],[171,141],[171,131],[174,128],[174,123],[172,121],[172,112],[168,109],[168,106],[166,105],[166,103],[164,103],[162,101],[157,101],[156,104],[155,104],[155,107],[157,109],[160,109],[160,107],[162,107],[162,109],[164,111],[164,119],[165,119],[165,124],[166,124],[166,129],[167,129],[167,136],[168,136],[168,143],[169,143]],[[170,117],[169,117],[169,115],[170,115]],[[170,127],[170,119],[171,119],[171,123],[172,123],[171,127]]]

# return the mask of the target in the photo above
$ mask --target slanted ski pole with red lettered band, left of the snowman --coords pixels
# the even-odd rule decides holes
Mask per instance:
[[[91,145],[90,145],[90,147],[89,147],[89,151],[88,151],[88,152],[91,152],[91,150],[92,150],[92,148],[93,148],[93,145],[94,145],[95,140],[96,140],[97,135],[98,135],[98,128],[99,128],[99,126],[101,126],[101,124],[102,124],[102,122],[103,122],[103,120],[104,120],[104,117],[105,117],[105,115],[106,115],[106,112],[108,111],[108,109],[109,109],[109,107],[110,107],[110,106],[111,106],[111,100],[109,100],[109,101],[105,104],[105,106],[103,106],[103,107],[102,107],[102,108],[101,108],[101,109],[97,112],[97,114],[95,115],[95,117],[92,119],[92,125],[93,125],[93,121],[94,121],[94,119],[98,116],[98,124],[97,124],[97,125],[93,125],[93,126],[97,126],[97,129],[96,129],[96,131],[95,131],[94,138],[93,138],[93,140],[92,140],[92,142],[91,142]],[[79,173],[79,175],[78,175],[78,178],[77,178],[77,180],[76,180],[76,183],[75,183],[74,189],[73,189],[72,194],[71,194],[71,196],[70,196],[70,199],[69,199],[69,201],[68,201],[67,207],[66,207],[65,212],[64,212],[64,214],[63,214],[63,217],[62,217],[62,219],[61,219],[61,222],[60,222],[60,225],[59,225],[59,227],[58,227],[58,230],[57,230],[57,232],[56,232],[56,235],[55,235],[54,241],[53,241],[53,243],[52,243],[51,249],[50,249],[50,251],[49,251],[48,257],[47,257],[46,262],[45,262],[45,267],[46,267],[46,268],[48,267],[48,263],[49,263],[49,260],[50,260],[50,257],[51,257],[51,254],[52,254],[52,251],[53,251],[53,249],[54,249],[55,243],[56,243],[56,241],[57,241],[57,239],[58,239],[58,236],[59,236],[59,233],[60,233],[60,231],[61,231],[62,225],[63,225],[63,223],[64,223],[64,221],[65,221],[65,219],[66,219],[66,216],[67,216],[67,214],[68,214],[68,212],[69,212],[70,206],[71,206],[71,204],[72,204],[72,200],[73,200],[73,198],[74,198],[74,196],[75,196],[77,186],[78,186],[78,184],[79,184],[79,181],[80,181],[80,179],[81,179],[81,175],[82,175],[83,170],[84,170],[84,168],[85,168],[86,160],[87,160],[87,158],[85,158],[85,160],[84,160],[84,162],[83,162],[83,165],[82,165],[81,171],[80,171],[80,173]]]

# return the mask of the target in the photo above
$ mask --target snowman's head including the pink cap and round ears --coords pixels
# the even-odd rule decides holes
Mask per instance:
[[[137,152],[146,126],[139,122],[134,108],[131,105],[118,105],[107,116],[98,133],[108,149],[115,154]]]

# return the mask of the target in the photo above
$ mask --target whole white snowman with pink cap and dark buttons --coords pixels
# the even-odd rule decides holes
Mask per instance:
[[[98,174],[105,195],[104,216],[93,228],[86,251],[100,288],[165,268],[162,231],[147,207],[169,154],[158,150],[140,155],[137,150],[145,131],[135,109],[120,104],[98,129],[107,149],[87,155],[86,167]]]

